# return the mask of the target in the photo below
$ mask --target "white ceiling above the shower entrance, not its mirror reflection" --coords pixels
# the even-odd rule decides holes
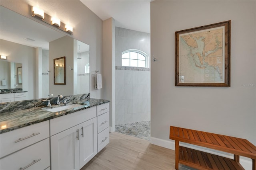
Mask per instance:
[[[152,0],[80,0],[103,21],[114,18],[116,27],[150,33]]]

